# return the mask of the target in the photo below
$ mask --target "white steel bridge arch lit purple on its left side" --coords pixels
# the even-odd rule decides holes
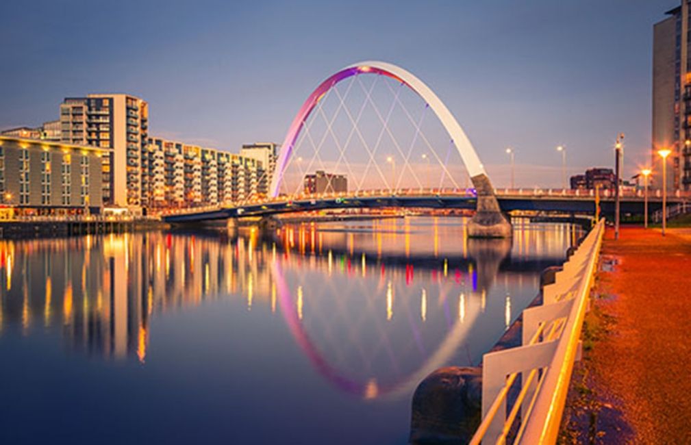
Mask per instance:
[[[285,173],[285,167],[287,167],[287,160],[290,158],[294,144],[303,128],[307,117],[310,116],[312,110],[316,104],[319,103],[322,97],[331,89],[334,85],[338,84],[348,77],[354,75],[359,75],[363,73],[379,74],[391,77],[402,84],[408,86],[417,95],[422,97],[422,99],[428,104],[432,111],[437,115],[439,121],[444,125],[444,129],[451,136],[453,144],[456,146],[458,153],[461,155],[461,159],[468,169],[468,174],[471,178],[478,175],[485,175],[484,167],[480,162],[480,158],[477,157],[475,149],[470,140],[466,136],[461,126],[458,124],[457,120],[448,111],[444,102],[437,97],[437,95],[426,85],[422,80],[415,77],[415,75],[409,73],[403,68],[387,64],[382,61],[363,61],[359,64],[354,64],[347,66],[340,70],[338,73],[332,75],[324,82],[321,82],[319,86],[316,87],[312,94],[307,97],[305,103],[298,111],[295,116],[288,133],[285,135],[285,140],[283,140],[283,145],[281,146],[281,153],[278,155],[278,162],[276,163],[276,172],[272,176],[271,188],[269,189],[269,196],[278,196],[278,189],[281,186],[281,180],[283,180],[283,173]]]

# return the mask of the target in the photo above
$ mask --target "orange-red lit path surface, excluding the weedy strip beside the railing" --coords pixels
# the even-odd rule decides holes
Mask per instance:
[[[596,304],[615,322],[589,354],[592,381],[621,401],[634,442],[691,444],[691,230],[613,238],[608,229],[603,261],[615,263],[598,287],[616,298]]]

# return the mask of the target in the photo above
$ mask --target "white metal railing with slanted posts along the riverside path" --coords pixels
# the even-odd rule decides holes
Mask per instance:
[[[542,305],[523,311],[522,345],[484,354],[482,422],[471,444],[505,444],[510,433],[516,444],[556,442],[604,231],[600,220],[543,288]],[[518,375],[521,388],[507,413]]]

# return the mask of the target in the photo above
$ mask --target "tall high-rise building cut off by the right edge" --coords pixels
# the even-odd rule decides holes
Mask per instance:
[[[668,188],[691,189],[691,8],[688,0],[667,11],[653,27],[652,153],[654,171],[661,172],[657,151],[670,149]],[[657,175],[660,177],[660,174]],[[658,180],[656,184],[661,184]]]

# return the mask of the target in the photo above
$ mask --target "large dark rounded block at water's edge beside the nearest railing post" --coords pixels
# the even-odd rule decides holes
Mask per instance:
[[[413,395],[410,444],[467,443],[480,425],[481,410],[482,368],[439,368]]]

